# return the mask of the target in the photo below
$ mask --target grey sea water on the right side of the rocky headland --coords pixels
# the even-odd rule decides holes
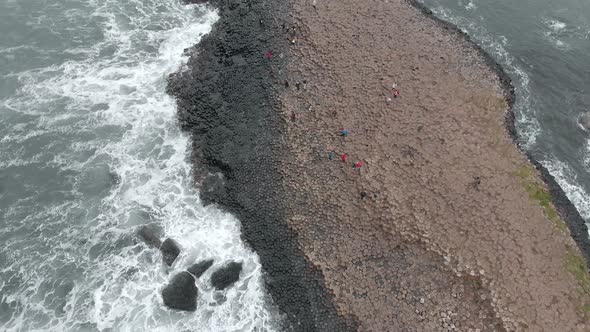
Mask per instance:
[[[500,63],[516,90],[520,145],[590,222],[590,2],[423,0]]]

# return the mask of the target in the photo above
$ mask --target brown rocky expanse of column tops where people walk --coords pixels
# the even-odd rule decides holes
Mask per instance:
[[[286,218],[338,313],[362,331],[590,330],[586,265],[481,52],[402,0],[292,6]]]

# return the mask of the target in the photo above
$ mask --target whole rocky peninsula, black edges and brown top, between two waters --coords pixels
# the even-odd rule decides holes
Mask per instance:
[[[464,34],[403,0],[211,5],[169,92],[280,330],[588,330],[587,229]]]

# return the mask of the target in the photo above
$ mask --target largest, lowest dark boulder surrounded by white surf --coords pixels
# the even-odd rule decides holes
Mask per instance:
[[[195,278],[190,273],[182,271],[162,290],[162,298],[168,308],[195,311],[198,292]]]

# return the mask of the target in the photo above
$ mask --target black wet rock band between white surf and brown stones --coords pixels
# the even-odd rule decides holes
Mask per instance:
[[[243,237],[260,257],[266,289],[285,314],[285,330],[353,330],[337,314],[319,270],[299,250],[287,226],[279,182],[284,123],[277,84],[287,77],[291,27],[286,1],[214,0],[220,19],[188,61],[171,76],[182,129],[193,139],[195,179],[221,172],[224,186],[201,188],[205,203],[217,203],[242,223]],[[267,56],[270,55],[270,59]]]

